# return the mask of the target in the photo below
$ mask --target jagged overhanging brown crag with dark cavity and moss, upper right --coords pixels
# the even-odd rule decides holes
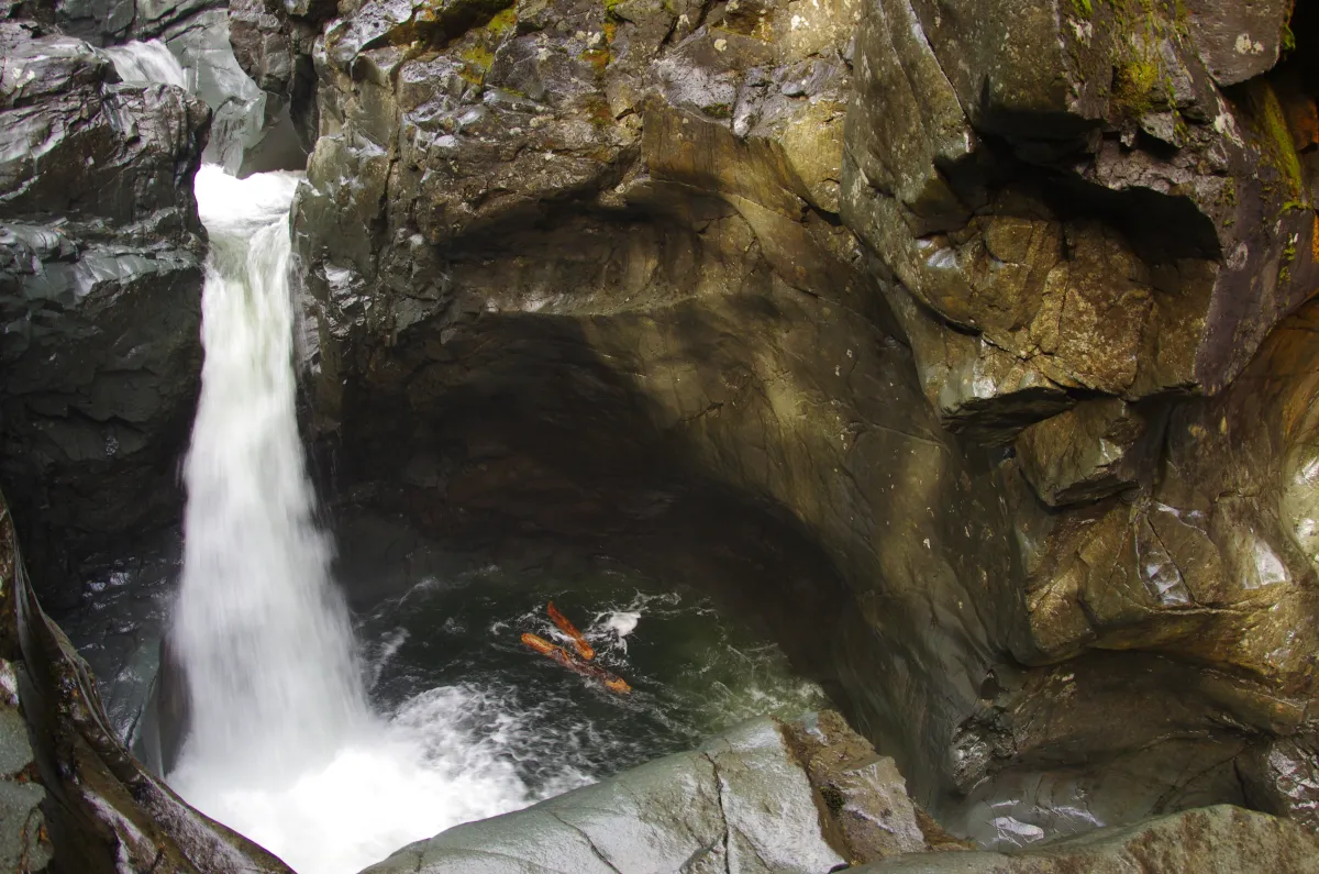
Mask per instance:
[[[1254,78],[1287,4],[1025,5],[872,4],[843,173],[931,401],[1000,440],[1219,391],[1316,281],[1302,61]]]

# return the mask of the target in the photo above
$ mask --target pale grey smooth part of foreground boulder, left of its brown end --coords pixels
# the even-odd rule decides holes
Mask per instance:
[[[363,874],[823,874],[844,859],[768,718],[525,811],[459,825]]]

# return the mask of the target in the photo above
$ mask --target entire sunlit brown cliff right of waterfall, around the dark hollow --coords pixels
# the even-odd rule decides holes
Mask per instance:
[[[855,602],[853,720],[1009,845],[1306,786],[1266,750],[1310,731],[1308,560],[1196,417],[1319,276],[1299,54],[1018,7],[236,7],[264,87],[315,69],[340,474],[541,524],[561,474],[777,504]]]

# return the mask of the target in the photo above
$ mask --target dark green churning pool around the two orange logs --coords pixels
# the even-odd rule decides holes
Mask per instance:
[[[566,643],[545,613],[549,601],[630,694],[521,643],[524,632]],[[620,613],[640,614],[624,638],[608,627]],[[757,714],[790,717],[827,704],[774,643],[721,615],[708,597],[617,572],[488,568],[427,578],[377,605],[357,638],[381,713],[404,722],[443,713],[483,758],[510,763],[536,797],[690,749]]]

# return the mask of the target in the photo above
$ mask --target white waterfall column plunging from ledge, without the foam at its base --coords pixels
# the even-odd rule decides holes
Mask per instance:
[[[323,759],[367,718],[294,411],[297,184],[291,173],[240,181],[214,165],[197,174],[211,256],[173,627],[193,701],[181,775],[223,760],[278,778]]]

